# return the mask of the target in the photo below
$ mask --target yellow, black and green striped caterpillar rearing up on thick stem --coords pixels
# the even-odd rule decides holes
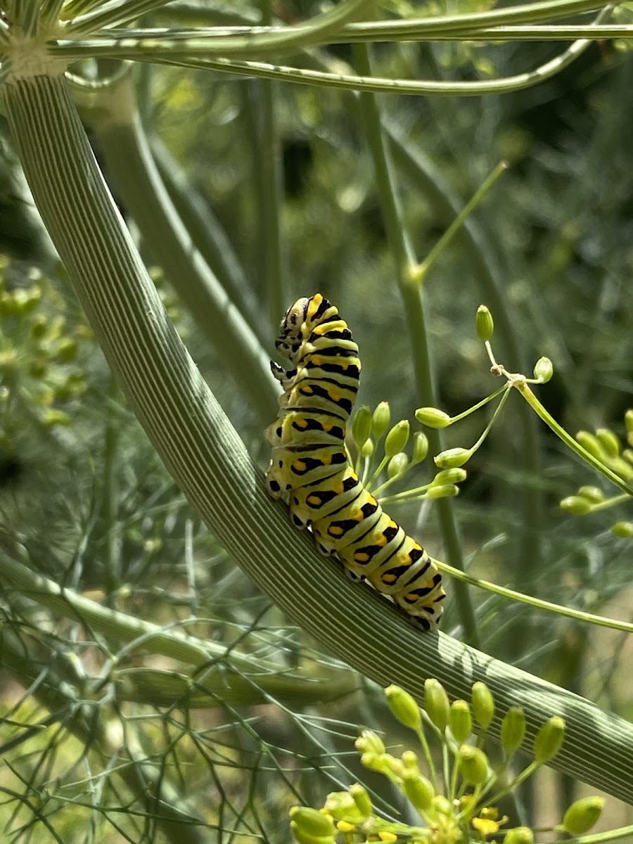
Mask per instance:
[[[424,630],[440,619],[445,592],[425,549],[365,490],[345,450],[345,426],[358,392],[358,345],[338,309],[320,293],[290,306],[271,360],[284,389],[266,431],[266,475],[273,498],[287,499],[295,527],[309,527],[324,554],[356,580],[389,596]]]

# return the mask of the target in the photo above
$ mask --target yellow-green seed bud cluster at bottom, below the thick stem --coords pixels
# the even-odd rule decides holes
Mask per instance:
[[[450,701],[446,690],[436,679],[425,682],[424,707],[420,707],[406,690],[390,685],[386,690],[392,715],[419,739],[424,759],[422,770],[419,755],[404,750],[400,755],[388,752],[385,742],[373,730],[365,729],[356,739],[360,761],[371,771],[387,777],[419,814],[419,826],[386,820],[376,814],[369,793],[360,783],[347,791],[327,796],[320,810],[306,807],[291,809],[291,827],[300,844],[344,844],[348,841],[414,841],[416,844],[446,844],[470,841],[476,836],[490,840],[508,823],[500,817],[495,800],[511,792],[538,766],[548,763],[559,752],[565,735],[565,722],[550,717],[533,738],[534,761],[515,779],[508,782],[507,762],[526,745],[526,717],[520,706],[511,706],[500,717],[500,741],[506,760],[499,769],[499,778],[483,749],[484,733],[495,720],[495,699],[489,687],[473,684],[470,701]],[[443,748],[444,787],[436,772],[428,735]],[[452,761],[447,761],[452,760]],[[573,803],[556,830],[582,835],[589,830],[603,807],[602,798],[582,798]],[[410,814],[410,813],[404,813]],[[534,833],[527,826],[501,830],[504,841],[511,844],[532,844]],[[479,841],[479,837],[477,837]]]

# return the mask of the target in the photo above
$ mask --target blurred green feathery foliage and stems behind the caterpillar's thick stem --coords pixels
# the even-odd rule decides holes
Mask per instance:
[[[19,3],[4,5],[9,18],[19,13]],[[71,0],[67,17],[98,5]],[[594,5],[591,17],[565,23],[589,24]],[[295,24],[320,11],[303,2],[263,13],[246,4],[153,6],[141,24]],[[619,4],[610,22],[628,24],[629,7]],[[467,0],[391,3],[381,17],[483,10]],[[128,67],[112,55],[72,65],[116,203],[260,468],[262,429],[276,410],[266,355],[285,308],[317,291],[360,345],[359,403],[388,400],[394,421],[419,430],[419,406],[457,414],[498,386],[474,331],[484,302],[509,370],[529,375],[541,355],[553,360],[555,376],[538,396],[567,430],[609,428],[625,441],[633,65],[620,35],[592,42],[541,84],[478,96],[372,97],[208,68]],[[343,36],[331,41],[295,51],[292,62],[280,53],[279,62],[365,74],[371,64],[376,77],[462,84],[543,65],[570,39],[379,40],[369,51]],[[346,667],[357,664],[354,647],[343,662],[277,609],[174,484],[116,387],[4,128],[0,821],[8,840],[289,841],[290,806],[321,805],[359,776],[382,809],[397,812],[398,794],[361,773],[353,751],[362,725],[387,729],[392,744],[407,740],[380,690]],[[507,170],[428,268],[420,298],[402,250],[422,261],[502,160]],[[235,325],[243,346],[226,333]],[[614,490],[523,405],[511,396],[457,500],[439,513],[416,502],[393,515],[432,555],[461,559],[473,576],[629,621],[631,539],[611,527],[630,511],[561,511],[582,484]],[[450,429],[443,447],[470,446],[484,414]],[[408,485],[430,479],[430,463]],[[232,518],[227,510],[229,533]],[[16,565],[31,578],[18,582]],[[446,580],[446,634],[630,719],[624,632],[484,590],[457,598]],[[73,597],[53,598],[55,585]],[[362,599],[373,612],[371,596]],[[145,621],[164,628],[165,641]],[[174,632],[191,636],[184,651]],[[564,713],[543,716],[551,714]],[[548,799],[526,789],[511,809],[517,819],[554,823],[576,796],[570,777],[546,776],[536,787],[541,795],[547,783]],[[611,798],[605,828],[626,822],[630,809]]]

